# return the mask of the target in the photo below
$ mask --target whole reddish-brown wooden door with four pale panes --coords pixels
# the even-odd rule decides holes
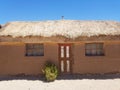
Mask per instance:
[[[59,44],[59,66],[61,73],[72,71],[72,50],[71,44]]]

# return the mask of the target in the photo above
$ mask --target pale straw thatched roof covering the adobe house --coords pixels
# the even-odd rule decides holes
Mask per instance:
[[[75,39],[80,36],[120,35],[120,22],[57,20],[38,22],[9,22],[0,29],[0,36],[63,36]]]

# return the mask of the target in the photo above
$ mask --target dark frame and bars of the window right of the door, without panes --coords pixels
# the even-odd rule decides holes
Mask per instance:
[[[87,49],[86,47],[87,47],[88,44],[91,44],[92,48]],[[95,45],[96,47],[94,47],[92,44]],[[87,51],[90,51],[89,52],[90,54],[87,54],[86,53]],[[94,54],[93,54],[93,51],[95,52]],[[101,42],[100,43],[96,43],[96,42],[95,43],[94,42],[93,43],[85,43],[85,56],[105,56],[104,43],[101,43]]]

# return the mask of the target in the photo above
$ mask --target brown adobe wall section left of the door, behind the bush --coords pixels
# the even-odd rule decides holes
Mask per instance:
[[[25,56],[25,44],[0,45],[0,75],[37,75],[42,73],[46,61],[58,65],[58,48],[56,44],[44,44],[45,56]]]

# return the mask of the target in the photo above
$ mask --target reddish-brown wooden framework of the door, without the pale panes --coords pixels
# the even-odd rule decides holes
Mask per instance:
[[[67,68],[67,65],[65,63],[65,61],[67,61],[67,58],[66,58],[66,53],[64,53],[64,58],[61,58],[61,46],[69,46],[69,61],[70,61],[70,72],[67,72],[66,71],[66,68]],[[59,71],[61,74],[71,74],[72,73],[72,64],[73,64],[73,54],[72,54],[72,46],[73,44],[72,43],[58,43],[58,60],[59,60]],[[64,52],[66,52],[66,49],[64,49]],[[64,72],[61,72],[61,59],[64,60],[64,64],[65,64],[65,71]]]

